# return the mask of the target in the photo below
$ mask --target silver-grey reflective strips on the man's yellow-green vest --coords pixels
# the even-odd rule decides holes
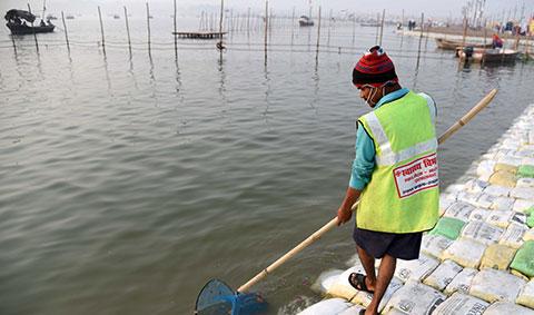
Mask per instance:
[[[431,109],[431,106],[434,106],[434,101],[432,98],[426,98],[426,105],[428,106],[428,110],[434,112],[435,110]],[[432,122],[434,124],[434,116],[431,114]],[[422,155],[426,151],[436,150],[437,149],[437,139],[432,138],[428,141],[416,144],[415,146],[408,147],[402,151],[394,152],[392,150],[392,142],[386,136],[384,128],[380,125],[380,121],[376,117],[375,112],[372,111],[367,115],[367,125],[375,137],[376,146],[380,148],[380,155],[376,155],[376,164],[378,166],[387,166],[400,163],[403,160],[414,158],[418,155]]]

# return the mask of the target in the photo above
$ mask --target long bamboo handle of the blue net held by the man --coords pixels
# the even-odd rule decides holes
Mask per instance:
[[[320,10],[320,9],[319,9]],[[493,100],[493,98],[495,97],[495,95],[497,93],[497,90],[494,89],[492,90],[487,96],[485,96],[475,107],[473,107],[466,115],[464,115],[464,117],[462,117],[458,122],[454,124],[451,128],[447,129],[447,131],[445,131],[445,134],[443,134],[437,142],[439,145],[442,145],[443,142],[445,142],[445,140],[447,140],[452,135],[454,135],[459,128],[462,128],[463,126],[465,126],[467,122],[471,121],[471,119],[473,119],[473,117],[475,117],[482,109],[484,109],[485,107],[487,107],[487,105]],[[352,207],[350,207],[350,210],[356,210],[356,208],[358,207],[358,204],[359,204],[359,200],[357,200]],[[309,245],[314,244],[316,240],[320,239],[320,237],[323,237],[323,235],[325,235],[327,232],[329,232],[330,229],[333,229],[334,227],[336,227],[338,225],[338,220],[337,220],[337,216],[334,217],[330,222],[328,222],[326,225],[324,225],[322,228],[319,228],[318,230],[316,230],[315,233],[313,233],[310,236],[308,236],[305,240],[303,240],[300,244],[298,244],[297,246],[295,246],[291,250],[287,252],[284,256],[281,256],[280,258],[278,258],[277,260],[275,260],[273,264],[270,264],[267,268],[263,269],[261,272],[259,272],[256,276],[254,276],[251,279],[249,279],[247,283],[245,283],[244,285],[241,285],[237,292],[238,293],[247,293],[251,286],[254,286],[255,284],[257,284],[259,280],[261,280],[263,278],[265,278],[267,275],[269,275],[270,273],[273,273],[275,269],[277,269],[279,266],[281,266],[284,263],[286,263],[287,260],[289,260],[290,258],[293,258],[295,255],[297,255],[298,253],[300,253],[303,249],[305,249],[306,247],[308,247]]]

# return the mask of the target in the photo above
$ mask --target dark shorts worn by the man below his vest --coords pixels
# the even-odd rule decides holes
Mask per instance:
[[[353,238],[358,247],[375,258],[388,254],[395,258],[413,260],[419,258],[423,233],[394,234],[356,227]]]

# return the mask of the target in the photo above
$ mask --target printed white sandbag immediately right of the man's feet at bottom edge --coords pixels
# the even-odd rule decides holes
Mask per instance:
[[[416,297],[416,298],[415,298]],[[408,280],[389,298],[385,313],[395,308],[408,315],[429,315],[445,301],[441,292],[415,280]]]

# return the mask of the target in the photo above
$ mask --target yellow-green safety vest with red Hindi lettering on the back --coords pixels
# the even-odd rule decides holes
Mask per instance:
[[[386,233],[432,229],[438,219],[434,106],[412,91],[360,117],[375,145],[375,169],[362,191],[356,225]]]

